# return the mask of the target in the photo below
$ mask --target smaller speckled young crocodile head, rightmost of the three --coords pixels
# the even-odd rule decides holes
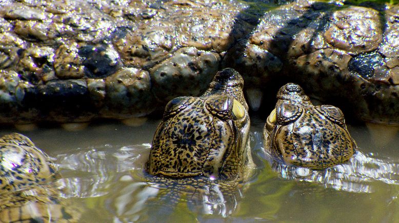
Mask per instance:
[[[265,147],[278,159],[298,166],[326,168],[349,160],[356,144],[341,109],[314,106],[302,88],[288,83],[264,128]]]

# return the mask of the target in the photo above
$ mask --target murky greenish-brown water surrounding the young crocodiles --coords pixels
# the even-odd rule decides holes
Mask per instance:
[[[79,132],[23,132],[55,159],[65,201],[84,222],[129,221],[394,221],[399,217],[399,136],[379,148],[366,127],[350,127],[360,150],[345,164],[310,170],[273,162],[262,142],[262,120],[252,119],[256,164],[249,184],[196,191],[148,180],[143,168],[157,120],[141,127],[117,123]],[[8,129],[1,135],[15,131]],[[187,186],[187,185],[186,185]],[[187,187],[186,187],[187,188]]]

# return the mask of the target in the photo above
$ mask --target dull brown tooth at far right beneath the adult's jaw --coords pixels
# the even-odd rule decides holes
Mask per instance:
[[[366,123],[374,146],[383,147],[391,143],[399,131],[399,126]]]

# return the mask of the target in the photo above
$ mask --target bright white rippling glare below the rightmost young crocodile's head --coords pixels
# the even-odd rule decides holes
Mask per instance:
[[[370,182],[381,181],[399,184],[399,165],[376,159],[357,152],[347,163],[325,170],[311,170],[304,167],[287,166],[272,161],[274,171],[283,179],[317,182],[326,188],[350,192],[374,192]]]

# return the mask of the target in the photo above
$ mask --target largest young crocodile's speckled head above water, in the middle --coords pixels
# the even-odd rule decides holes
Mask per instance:
[[[156,129],[147,171],[167,177],[243,180],[252,164],[243,85],[240,74],[225,69],[202,96],[172,99]]]

